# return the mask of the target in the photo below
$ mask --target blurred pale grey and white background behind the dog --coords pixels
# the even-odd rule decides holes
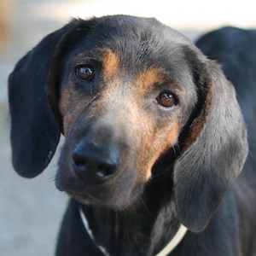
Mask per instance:
[[[67,196],[55,189],[55,159],[32,180],[10,163],[7,79],[15,63],[71,17],[156,17],[191,40],[220,26],[256,28],[255,1],[0,0],[0,256],[54,255]]]

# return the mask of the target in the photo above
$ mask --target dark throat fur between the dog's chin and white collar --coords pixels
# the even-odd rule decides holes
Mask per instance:
[[[111,256],[155,255],[176,234],[180,224],[172,201],[172,183],[166,181],[169,188],[157,183],[148,186],[124,211],[81,206],[96,244]],[[161,193],[161,189],[169,191],[169,195]]]

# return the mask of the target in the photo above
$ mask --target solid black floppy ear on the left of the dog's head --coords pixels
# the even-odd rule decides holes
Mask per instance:
[[[43,172],[59,142],[59,125],[47,96],[49,73],[61,38],[78,23],[79,20],[73,20],[49,34],[9,75],[12,162],[23,177],[36,177]]]

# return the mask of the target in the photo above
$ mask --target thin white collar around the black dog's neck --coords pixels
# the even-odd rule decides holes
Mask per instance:
[[[87,231],[87,233],[89,234],[90,238],[92,241],[95,241],[95,238],[92,234],[92,231],[90,230],[90,227],[89,227],[89,224],[88,224],[88,221],[84,215],[84,212],[81,210],[81,208],[79,209],[79,212],[80,212],[80,216],[81,216],[81,219],[82,219],[82,222],[84,224],[84,228],[85,230]],[[183,237],[186,235],[188,229],[186,227],[183,226],[183,224],[180,225],[179,229],[177,230],[177,233],[176,235],[172,238],[171,241],[168,242],[168,244],[166,245],[166,247],[164,247],[160,253],[157,253],[155,256],[166,256],[168,255],[169,253],[172,253],[172,251],[177,247],[177,245],[180,243],[180,241],[183,240]],[[105,256],[110,256],[106,249],[102,246],[99,246],[97,245],[98,248],[102,251],[102,253],[105,255]]]

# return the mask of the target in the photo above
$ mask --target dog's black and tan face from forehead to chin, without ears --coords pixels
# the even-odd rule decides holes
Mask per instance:
[[[61,55],[66,141],[56,184],[79,201],[129,206],[155,162],[177,143],[182,117],[195,105],[186,48],[169,42],[170,33],[184,44],[187,39],[160,28],[106,22]]]

